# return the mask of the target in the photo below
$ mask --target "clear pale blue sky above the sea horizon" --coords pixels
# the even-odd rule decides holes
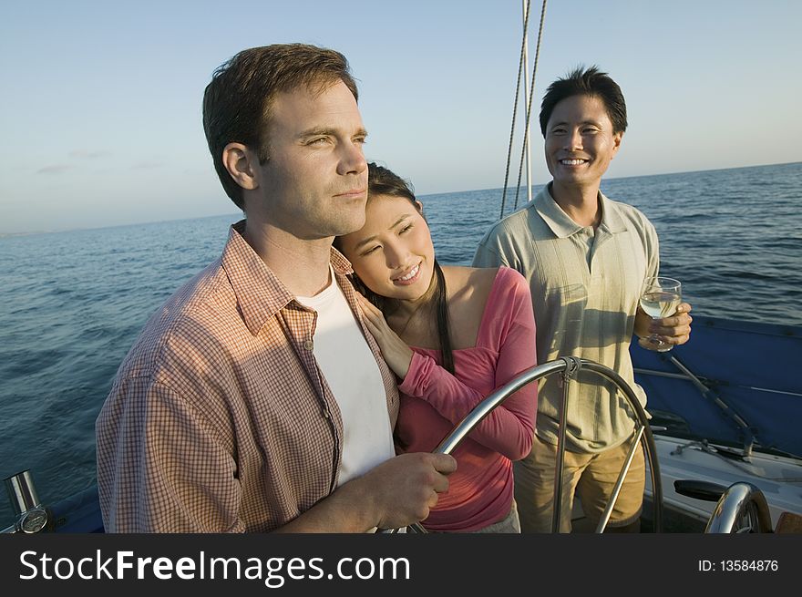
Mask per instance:
[[[236,213],[200,101],[216,67],[272,43],[348,58],[366,157],[418,195],[499,188],[521,16],[520,0],[0,0],[0,234]],[[532,103],[579,65],[610,73],[629,129],[608,178],[802,161],[800,23],[797,0],[551,0]]]

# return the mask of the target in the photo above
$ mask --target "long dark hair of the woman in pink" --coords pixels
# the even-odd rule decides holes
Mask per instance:
[[[367,201],[379,195],[390,195],[391,197],[402,197],[408,199],[415,205],[416,210],[420,211],[415,199],[415,192],[412,184],[402,179],[392,170],[379,166],[375,162],[367,165]],[[334,239],[334,246],[340,248],[339,237]],[[451,343],[451,330],[448,323],[448,299],[446,293],[446,276],[437,258],[434,262],[435,278],[434,299],[435,311],[437,314],[437,343],[440,354],[443,358],[443,367],[452,375],[454,374],[454,348]],[[397,302],[395,299],[381,296],[371,291],[355,273],[351,275],[351,282],[355,289],[362,293],[368,301],[375,304],[385,315],[391,314],[396,310]]]

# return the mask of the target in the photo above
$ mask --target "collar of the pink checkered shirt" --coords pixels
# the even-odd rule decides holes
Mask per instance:
[[[231,225],[221,263],[237,297],[242,319],[252,335],[256,335],[268,319],[293,303],[295,296],[242,238],[244,229],[244,220]],[[345,275],[354,270],[351,262],[334,247],[331,249],[331,264],[336,282],[340,286],[347,283]]]

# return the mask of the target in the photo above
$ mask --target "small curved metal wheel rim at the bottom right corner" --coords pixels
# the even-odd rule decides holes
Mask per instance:
[[[739,521],[748,518],[745,527],[737,526]],[[773,532],[771,513],[763,491],[752,483],[739,481],[730,485],[715,504],[715,510],[705,533],[732,532]]]

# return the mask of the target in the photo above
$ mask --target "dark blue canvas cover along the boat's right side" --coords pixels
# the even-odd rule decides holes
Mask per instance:
[[[672,356],[709,391],[654,373],[684,376]],[[802,327],[694,317],[687,344],[655,353],[633,343],[632,362],[653,424],[671,435],[741,447],[752,434],[756,449],[802,458]]]

